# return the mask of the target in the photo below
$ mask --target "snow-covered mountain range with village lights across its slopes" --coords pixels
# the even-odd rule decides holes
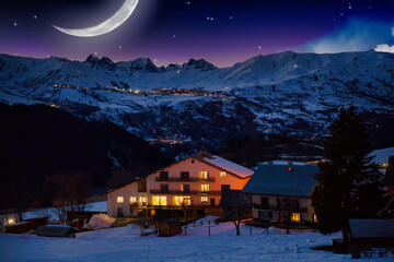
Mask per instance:
[[[393,111],[394,55],[281,52],[219,69],[204,59],[157,67],[149,58],[0,56],[0,99],[45,103],[161,142],[222,145],[255,132],[325,132],[338,107]]]

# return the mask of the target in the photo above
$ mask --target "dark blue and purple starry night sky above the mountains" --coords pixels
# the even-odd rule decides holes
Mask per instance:
[[[140,0],[115,31],[66,35],[111,17],[125,0],[10,0],[0,3],[0,52],[155,64],[205,58],[219,67],[293,50],[339,52],[394,44],[394,0]],[[394,47],[392,48],[394,49]]]

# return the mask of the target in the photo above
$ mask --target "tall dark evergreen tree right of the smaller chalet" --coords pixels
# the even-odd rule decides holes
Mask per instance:
[[[348,218],[378,217],[385,206],[384,176],[373,163],[373,148],[354,106],[340,108],[329,132],[324,148],[326,162],[318,165],[312,205],[318,230],[343,230],[347,241]]]

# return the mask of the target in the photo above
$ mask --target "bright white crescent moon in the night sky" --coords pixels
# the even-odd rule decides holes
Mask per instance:
[[[125,23],[136,10],[138,1],[139,0],[126,0],[121,8],[113,16],[111,16],[103,23],[94,25],[92,27],[71,29],[62,28],[56,25],[53,26],[65,34],[78,37],[93,37],[104,35],[116,29],[123,23]]]

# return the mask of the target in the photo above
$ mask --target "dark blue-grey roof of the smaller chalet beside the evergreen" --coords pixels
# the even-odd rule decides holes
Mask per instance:
[[[259,165],[242,192],[309,196],[316,186],[316,165]]]

